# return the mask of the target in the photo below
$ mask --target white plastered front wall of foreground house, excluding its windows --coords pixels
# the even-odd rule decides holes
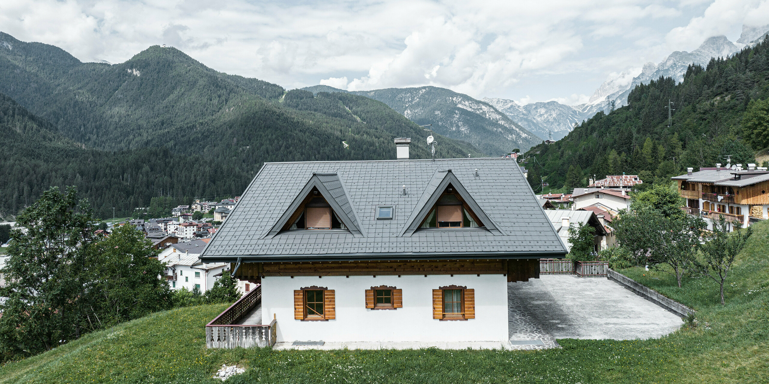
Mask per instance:
[[[371,286],[403,290],[403,308],[369,310]],[[432,290],[439,286],[475,290],[475,319],[441,321],[432,316]],[[294,319],[294,290],[325,286],[335,290],[336,319]],[[507,277],[498,275],[268,276],[261,280],[262,323],[278,320],[278,342],[464,342],[508,340]]]

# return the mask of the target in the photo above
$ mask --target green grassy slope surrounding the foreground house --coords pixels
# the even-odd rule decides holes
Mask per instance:
[[[205,349],[203,325],[225,306],[195,306],[155,313],[13,362],[0,368],[0,383],[214,382],[209,378],[218,366],[235,362],[248,370],[228,379],[231,384],[769,382],[769,222],[755,229],[734,271],[727,306],[718,304],[713,283],[687,279],[678,290],[659,273],[624,271],[697,309],[700,326],[661,339],[561,339],[564,349],[541,352]]]

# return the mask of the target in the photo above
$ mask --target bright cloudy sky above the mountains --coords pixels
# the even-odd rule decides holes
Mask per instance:
[[[172,45],[285,88],[434,85],[474,98],[587,101],[607,78],[769,24],[769,0],[15,0],[0,31],[82,61]]]

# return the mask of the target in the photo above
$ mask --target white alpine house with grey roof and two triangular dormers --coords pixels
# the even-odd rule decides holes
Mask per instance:
[[[273,343],[508,341],[508,282],[564,244],[514,159],[405,153],[251,181],[201,261],[261,283]]]

